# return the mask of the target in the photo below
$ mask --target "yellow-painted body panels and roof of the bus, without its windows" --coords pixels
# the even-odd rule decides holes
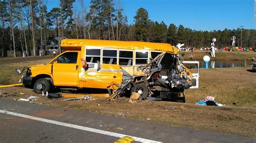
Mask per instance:
[[[127,49],[133,51],[133,66],[130,67],[131,75],[139,74],[138,65],[134,65],[136,50],[162,51],[172,54],[178,54],[177,47],[170,44],[160,44],[138,41],[111,41],[111,40],[84,40],[84,39],[65,39],[61,42],[61,47],[65,52],[59,54],[45,65],[30,66],[31,77],[48,75],[52,78],[53,85],[62,87],[78,88],[102,88],[106,89],[110,83],[120,84],[122,82],[122,69],[118,65],[109,65],[100,63],[100,70],[89,68],[84,70],[80,59],[85,59],[86,46],[96,46],[102,48]],[[101,49],[101,51],[103,51]],[[77,63],[57,63],[59,56],[67,52],[78,52]],[[101,62],[102,62],[101,52]],[[119,55],[117,56],[118,60]],[[123,66],[122,66],[123,67]],[[124,66],[125,68],[125,66]],[[117,87],[114,87],[117,89]]]

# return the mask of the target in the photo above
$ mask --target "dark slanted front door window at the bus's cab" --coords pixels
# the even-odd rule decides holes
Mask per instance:
[[[68,52],[57,58],[57,63],[77,63],[77,52]]]

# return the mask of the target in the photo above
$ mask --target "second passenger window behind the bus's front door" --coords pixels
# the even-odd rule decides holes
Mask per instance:
[[[116,49],[103,49],[103,62],[106,64],[117,64],[117,50]]]

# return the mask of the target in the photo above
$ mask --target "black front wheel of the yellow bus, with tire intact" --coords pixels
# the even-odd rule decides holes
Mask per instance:
[[[51,90],[51,83],[49,80],[46,80],[45,78],[39,78],[33,85],[33,91],[36,94],[42,94],[42,92],[44,92],[45,94],[46,91],[49,92],[50,90]]]

